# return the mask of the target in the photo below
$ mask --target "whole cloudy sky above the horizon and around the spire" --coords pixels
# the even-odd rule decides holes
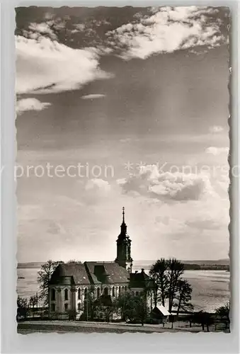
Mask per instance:
[[[227,8],[17,8],[18,261],[227,258]]]

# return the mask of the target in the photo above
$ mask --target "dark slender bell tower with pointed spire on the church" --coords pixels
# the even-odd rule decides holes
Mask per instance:
[[[122,207],[121,232],[117,239],[117,258],[115,262],[132,273],[131,240],[127,235],[127,225],[125,224],[125,208]]]

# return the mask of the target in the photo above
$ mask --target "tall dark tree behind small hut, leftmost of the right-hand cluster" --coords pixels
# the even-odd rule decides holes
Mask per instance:
[[[155,283],[155,287],[153,289],[155,307],[158,301],[160,301],[161,304],[165,306],[165,300],[168,296],[168,278],[166,275],[167,269],[168,264],[164,258],[161,258],[152,265],[152,268],[149,271],[149,275],[152,277]]]

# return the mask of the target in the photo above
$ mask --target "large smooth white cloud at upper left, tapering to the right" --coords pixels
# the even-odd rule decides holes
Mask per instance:
[[[56,93],[79,89],[89,81],[108,79],[98,55],[52,41],[16,36],[16,92]]]

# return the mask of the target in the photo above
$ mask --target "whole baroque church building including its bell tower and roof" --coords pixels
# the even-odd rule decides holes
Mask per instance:
[[[146,301],[151,279],[142,269],[132,273],[131,240],[122,208],[122,224],[117,239],[117,257],[113,262],[86,261],[61,263],[57,266],[49,285],[49,311],[52,318],[64,318],[69,312],[76,317],[90,317],[91,304],[110,306],[114,299],[131,291],[145,294]],[[152,307],[152,306],[151,306]],[[95,315],[96,316],[96,315]]]

